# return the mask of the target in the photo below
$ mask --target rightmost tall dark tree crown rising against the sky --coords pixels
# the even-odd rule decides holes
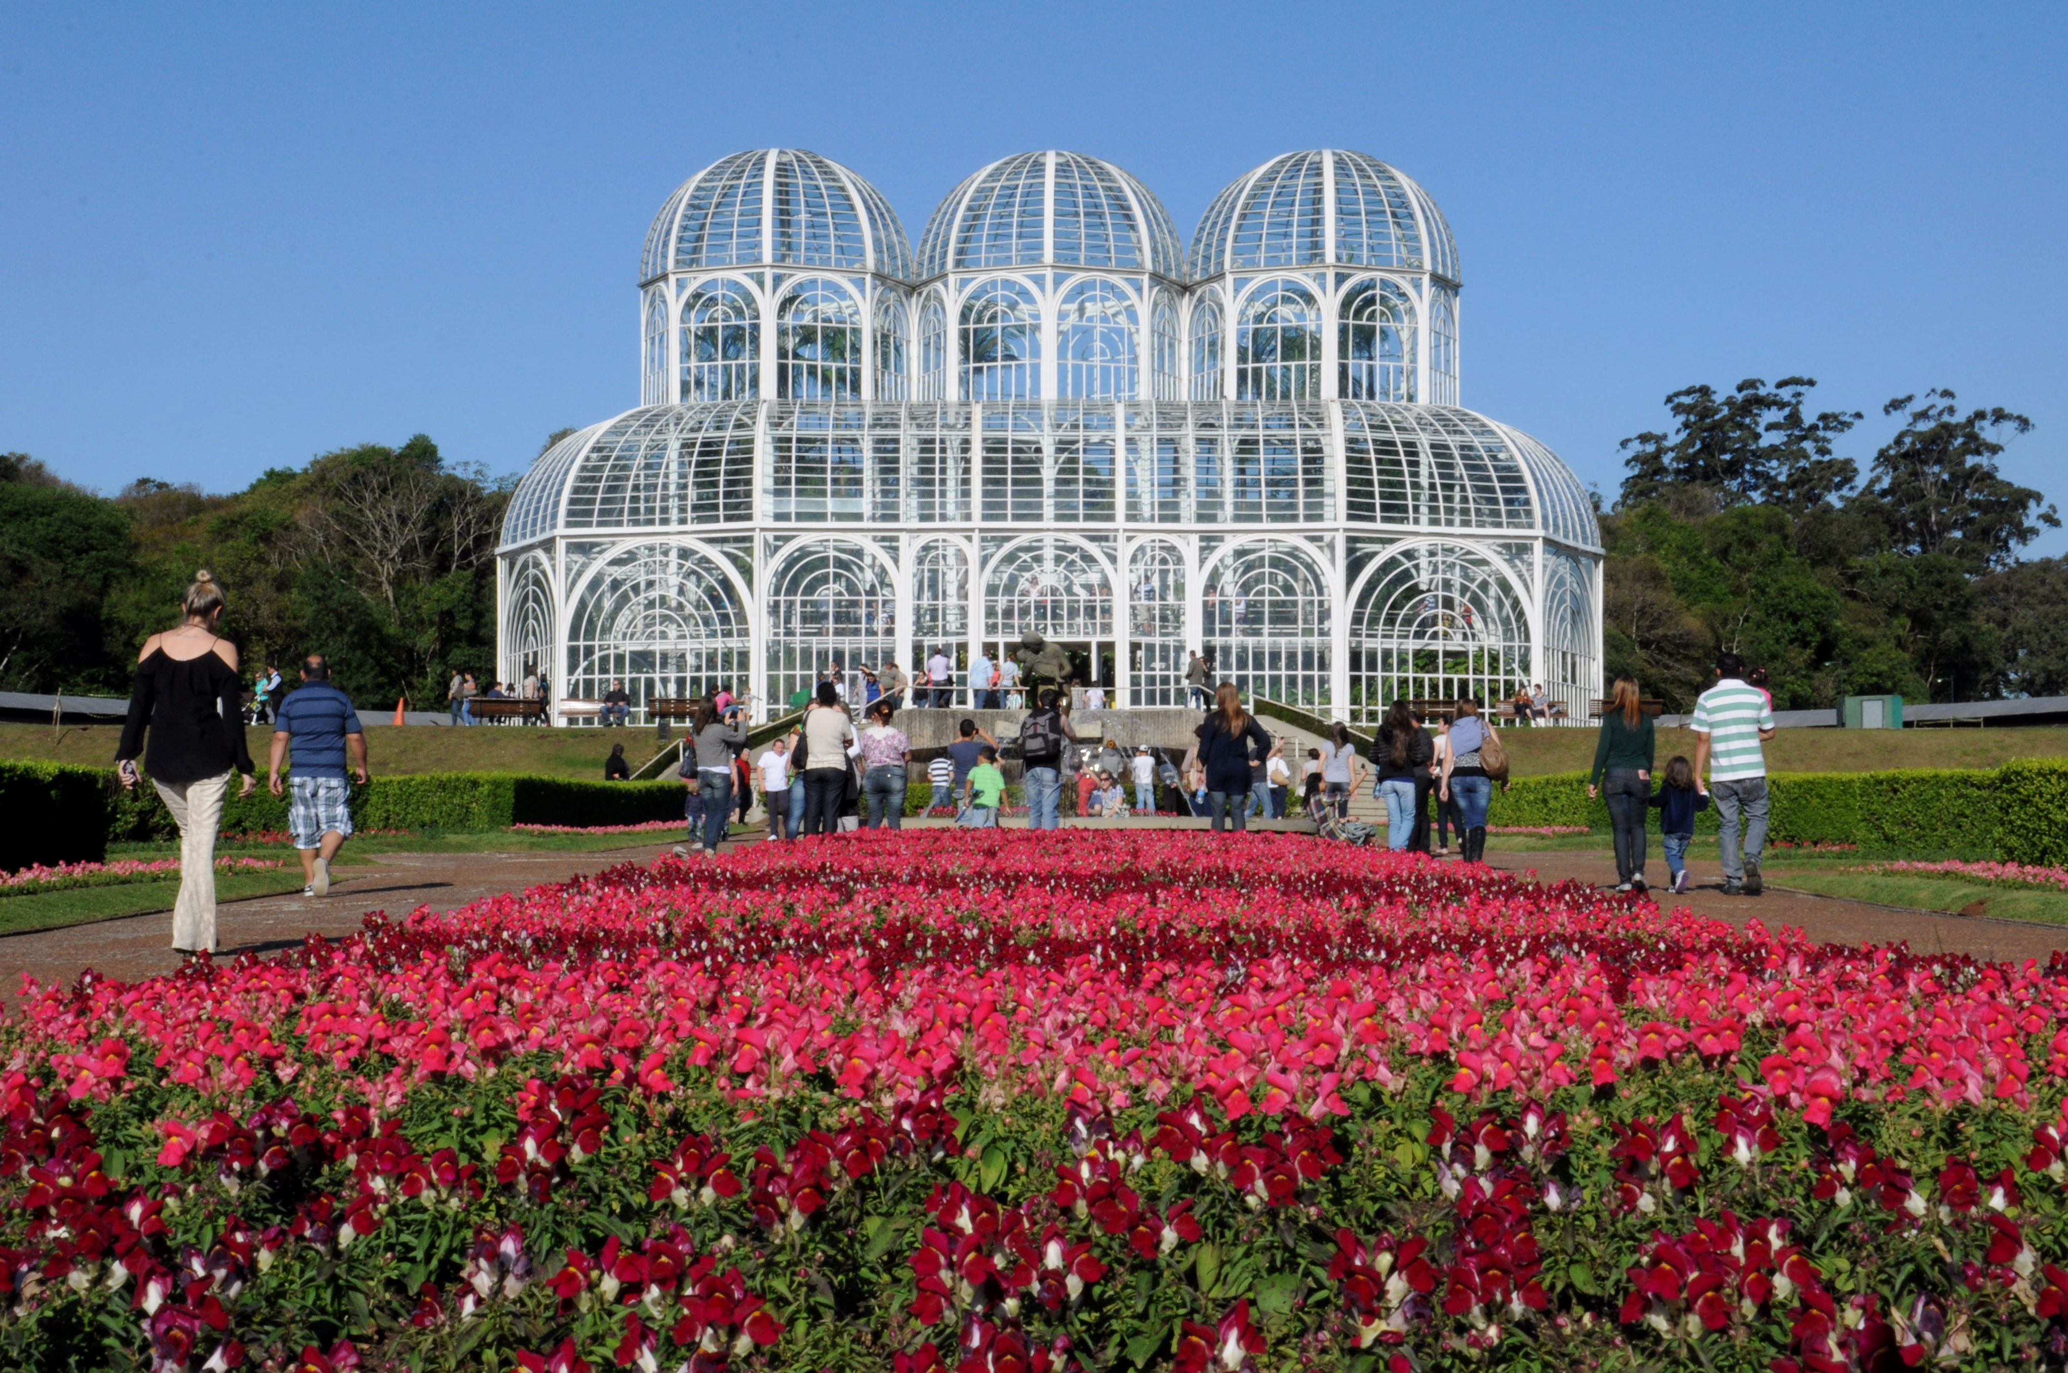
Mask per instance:
[[[1952,391],[1898,395],[1882,405],[1903,430],[1874,455],[1861,502],[1888,527],[1896,552],[1950,554],[1969,573],[2010,567],[2041,527],[2060,529],[2045,496],[1996,469],[2002,436],[2029,434],[2033,422],[2002,405],[1960,414]]]

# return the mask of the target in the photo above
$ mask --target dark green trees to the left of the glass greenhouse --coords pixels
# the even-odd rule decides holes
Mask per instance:
[[[143,478],[83,490],[0,453],[0,691],[126,695],[136,649],[209,569],[248,668],[323,653],[356,701],[445,699],[494,662],[494,546],[515,478],[424,434],[275,467],[234,494]]]

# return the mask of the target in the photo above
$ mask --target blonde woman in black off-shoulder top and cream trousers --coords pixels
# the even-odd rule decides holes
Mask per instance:
[[[238,796],[256,782],[244,746],[238,649],[215,633],[223,589],[207,571],[194,573],[180,602],[178,629],[151,635],[136,655],[130,709],[116,746],[124,788],[136,786],[143,753],[151,786],[180,827],[180,899],[172,908],[172,947],[215,953],[215,829],[223,819],[230,773],[244,775]],[[151,734],[145,746],[145,730]]]

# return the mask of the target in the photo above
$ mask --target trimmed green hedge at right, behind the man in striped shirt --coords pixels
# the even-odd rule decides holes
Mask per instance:
[[[2068,860],[2068,763],[2010,763],[1996,771],[1772,773],[1766,784],[1772,796],[1768,840],[2016,862]],[[1607,829],[1609,806],[1586,798],[1586,773],[1580,771],[1516,777],[1506,794],[1495,788],[1487,823]],[[1648,827],[1656,829],[1659,819]],[[1716,833],[1714,806],[1700,813],[1694,827]]]

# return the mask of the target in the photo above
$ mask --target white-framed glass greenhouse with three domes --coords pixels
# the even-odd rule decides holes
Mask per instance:
[[[1063,645],[1123,707],[1216,680],[1352,722],[1394,697],[1601,689],[1574,474],[1458,407],[1458,250],[1334,149],[1208,207],[1191,250],[1079,153],[978,170],[914,252],[815,153],[689,178],[639,267],[641,405],[546,451],[500,546],[500,676],[562,703]]]

